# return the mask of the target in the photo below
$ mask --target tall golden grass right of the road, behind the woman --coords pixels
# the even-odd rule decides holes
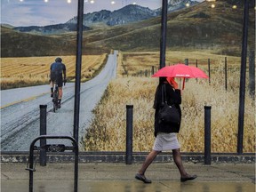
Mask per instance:
[[[204,52],[167,52],[167,62],[198,59],[207,68],[211,58],[214,72],[207,79],[190,79],[182,92],[182,122],[178,135],[181,151],[204,151],[204,106],[212,106],[212,152],[236,152],[239,100],[239,58],[228,57],[228,90],[224,86],[224,57]],[[191,57],[190,57],[191,55]],[[152,108],[158,78],[133,77],[159,60],[157,52],[124,53],[118,57],[118,77],[94,110],[95,119],[84,136],[84,150],[124,151],[126,105],[133,105],[133,151],[149,151],[154,143]],[[231,63],[231,64],[230,64]],[[124,68],[130,76],[124,73]],[[179,82],[179,79],[177,79]],[[247,81],[248,82],[248,81]],[[244,152],[255,152],[255,103],[246,92]]]

